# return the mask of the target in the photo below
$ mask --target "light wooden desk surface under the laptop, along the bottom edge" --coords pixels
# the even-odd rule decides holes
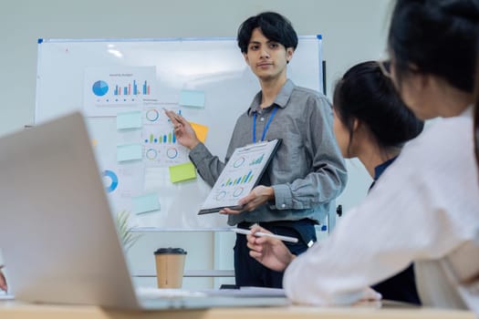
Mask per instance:
[[[363,304],[344,308],[319,308],[308,306],[264,308],[212,308],[205,310],[174,310],[159,312],[125,312],[102,309],[96,306],[24,304],[0,301],[0,318],[16,319],[474,319],[471,312],[438,310],[431,308],[392,308],[378,304]]]

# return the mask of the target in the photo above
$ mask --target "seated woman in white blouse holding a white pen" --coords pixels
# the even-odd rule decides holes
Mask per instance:
[[[257,261],[277,271],[287,267],[283,284],[292,301],[378,298],[368,287],[414,262],[422,304],[479,314],[472,116],[478,17],[477,1],[396,1],[385,74],[418,118],[443,119],[401,150],[325,242],[294,258],[281,242],[248,235]]]

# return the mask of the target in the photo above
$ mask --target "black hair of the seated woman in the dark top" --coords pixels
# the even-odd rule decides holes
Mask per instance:
[[[378,62],[368,61],[349,68],[338,80],[333,106],[353,138],[354,120],[370,130],[380,149],[401,148],[418,136],[424,122],[416,118],[398,96],[392,81],[382,74]]]

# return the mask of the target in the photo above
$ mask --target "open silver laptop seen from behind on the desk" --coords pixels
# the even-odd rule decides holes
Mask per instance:
[[[139,297],[78,112],[0,139],[0,171],[0,247],[18,300],[131,310],[289,304],[284,296]]]

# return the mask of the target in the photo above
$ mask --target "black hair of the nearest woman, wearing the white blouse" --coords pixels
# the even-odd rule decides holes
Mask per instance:
[[[388,46],[399,82],[432,74],[472,93],[478,30],[478,0],[398,0]]]

